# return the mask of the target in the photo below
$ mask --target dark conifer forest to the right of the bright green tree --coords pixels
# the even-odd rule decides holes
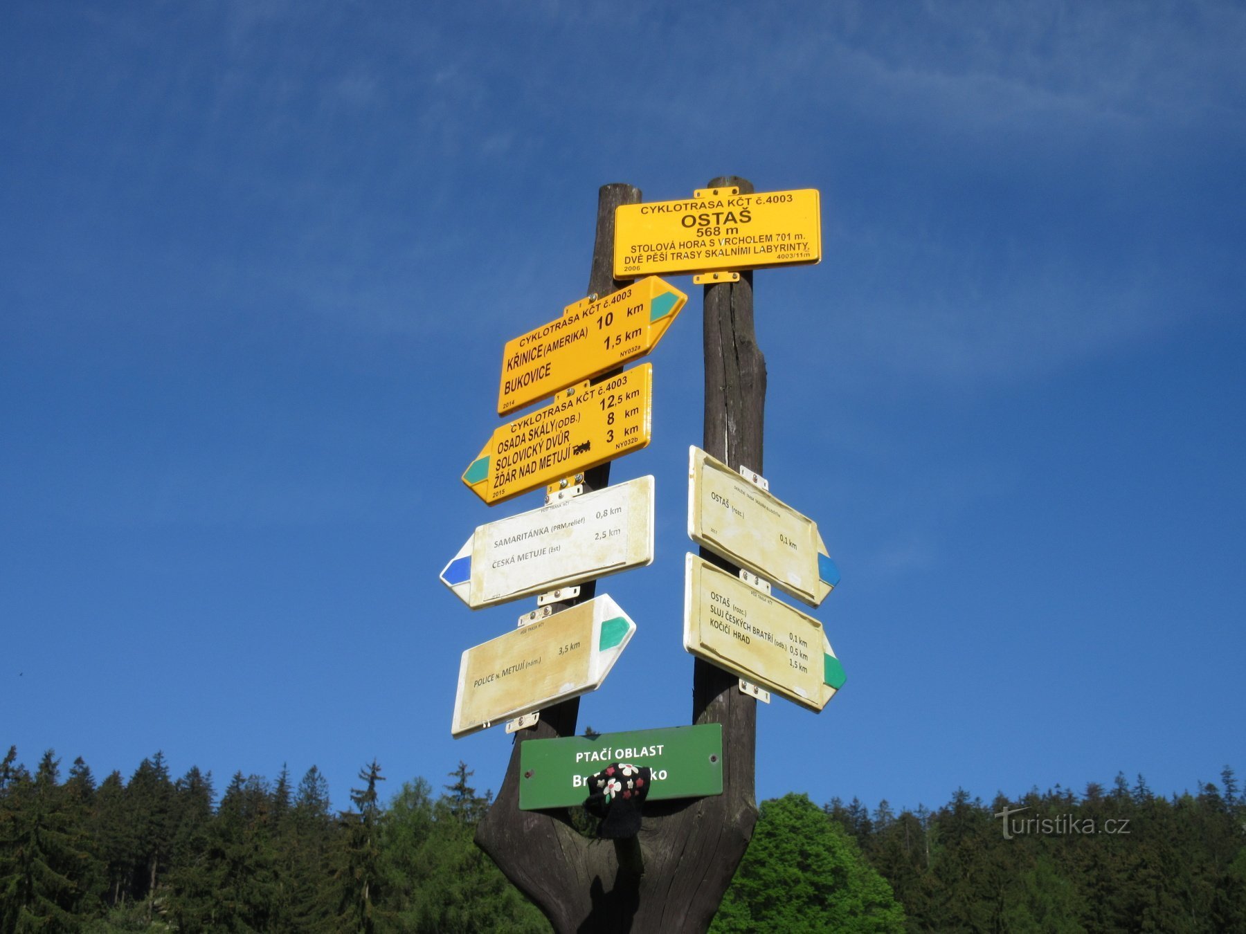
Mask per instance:
[[[910,930],[1246,932],[1246,795],[1230,767],[1197,793],[1118,773],[989,804],[824,807],[891,884]],[[1006,812],[1007,808],[1007,812]],[[1007,833],[1006,833],[1007,832]]]

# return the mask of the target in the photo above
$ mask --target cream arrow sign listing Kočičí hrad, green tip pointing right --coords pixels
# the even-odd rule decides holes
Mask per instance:
[[[684,577],[684,648],[814,711],[845,681],[821,623],[694,554]]]

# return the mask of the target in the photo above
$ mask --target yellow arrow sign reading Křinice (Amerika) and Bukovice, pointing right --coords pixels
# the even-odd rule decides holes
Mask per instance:
[[[508,340],[502,351],[497,413],[552,396],[648,354],[688,296],[657,276],[606,298],[581,299],[557,321]]]

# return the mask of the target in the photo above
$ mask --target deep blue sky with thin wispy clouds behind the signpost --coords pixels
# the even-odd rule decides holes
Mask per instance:
[[[97,777],[459,762],[437,580],[502,345],[597,189],[817,188],[756,274],[765,473],[849,674],[758,793],[1164,792],[1246,767],[1246,11],[1148,4],[37,4],[0,12],[0,745]],[[581,727],[687,724],[700,288],[649,357],[658,557]],[[624,690],[642,700],[619,709]],[[629,695],[630,696],[630,695]]]

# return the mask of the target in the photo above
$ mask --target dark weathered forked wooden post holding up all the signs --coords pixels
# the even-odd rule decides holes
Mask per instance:
[[[709,183],[710,188],[731,186],[744,194],[753,192],[740,178]],[[606,295],[621,288],[612,265],[614,210],[639,200],[640,192],[632,186],[601,189],[591,293]],[[704,448],[728,463],[761,471],[766,372],[753,328],[751,271],[739,281],[706,285],[704,313]],[[588,471],[584,482],[599,488],[608,477],[607,463]],[[735,572],[708,552],[703,555]],[[579,600],[593,594],[594,582],[583,584]],[[705,930],[756,822],[755,704],[739,690],[735,675],[694,661],[693,722],[723,725],[723,795],[648,803],[639,834],[643,874],[637,874],[625,848],[581,836],[566,809],[520,809],[521,743],[573,736],[578,699],[542,710],[538,724],[517,735],[497,800],[477,828],[477,844],[558,932]]]

